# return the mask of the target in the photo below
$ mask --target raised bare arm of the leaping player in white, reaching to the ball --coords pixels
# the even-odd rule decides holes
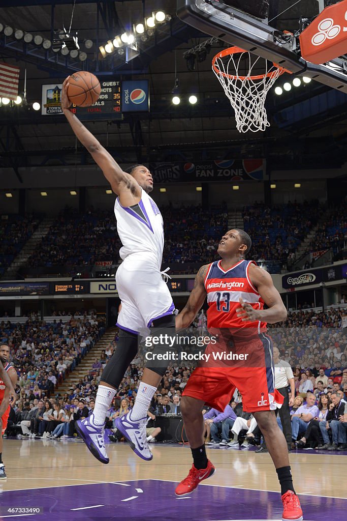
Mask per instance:
[[[66,78],[62,84],[61,91],[61,109],[65,114],[70,126],[75,133],[78,140],[84,145],[92,155],[95,163],[101,168],[104,176],[111,185],[114,193],[120,195],[122,192],[129,192],[133,197],[137,198],[136,201],[128,201],[128,204],[135,204],[141,197],[141,189],[137,181],[128,173],[124,172],[121,167],[115,162],[114,158],[106,148],[104,148],[94,135],[81,123],[81,121],[72,114],[69,107],[71,102],[68,98],[68,86],[69,77]]]

